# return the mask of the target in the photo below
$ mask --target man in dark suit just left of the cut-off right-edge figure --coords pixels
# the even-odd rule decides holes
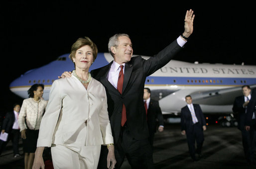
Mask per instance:
[[[255,130],[252,128],[247,131],[245,129],[246,111],[248,103],[251,99],[251,88],[249,85],[242,86],[243,95],[235,98],[233,104],[233,112],[238,113],[238,129],[242,132],[242,143],[246,160],[249,164],[254,163],[255,152]]]

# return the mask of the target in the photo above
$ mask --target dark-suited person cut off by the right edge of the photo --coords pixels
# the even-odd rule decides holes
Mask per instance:
[[[248,149],[250,162],[252,165],[256,165],[255,160],[255,141],[256,141],[256,88],[253,89],[251,99],[246,107],[246,117],[245,117],[245,129],[250,133],[249,145],[251,149]]]

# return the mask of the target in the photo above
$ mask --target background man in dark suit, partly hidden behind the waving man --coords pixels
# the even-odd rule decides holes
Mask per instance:
[[[161,108],[159,107],[159,102],[150,98],[151,91],[149,88],[144,88],[144,106],[146,109],[146,117],[147,117],[147,126],[149,131],[149,143],[153,150],[153,142],[154,142],[154,134],[156,132],[157,121],[158,121],[158,131],[163,131],[163,115]],[[156,121],[157,120],[157,121]]]

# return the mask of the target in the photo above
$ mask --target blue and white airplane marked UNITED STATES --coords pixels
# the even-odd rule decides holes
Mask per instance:
[[[10,90],[22,98],[28,98],[27,90],[32,84],[44,84],[43,98],[48,100],[53,81],[64,71],[74,70],[68,56],[64,54],[45,66],[27,71],[9,85]],[[110,53],[98,53],[90,70],[103,67],[112,60]],[[233,113],[234,99],[243,94],[241,86],[245,84],[256,87],[256,66],[177,60],[171,60],[145,81],[145,87],[150,88],[151,98],[159,101],[164,116],[179,115],[181,108],[186,105],[186,95],[191,95],[193,103],[200,104],[205,114]]]

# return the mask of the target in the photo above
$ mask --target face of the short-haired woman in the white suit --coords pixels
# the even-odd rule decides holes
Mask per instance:
[[[76,70],[86,70],[89,71],[89,68],[91,67],[93,63],[93,50],[90,46],[85,45],[81,48],[79,48],[76,51],[75,58],[73,58],[73,61],[76,64]]]

